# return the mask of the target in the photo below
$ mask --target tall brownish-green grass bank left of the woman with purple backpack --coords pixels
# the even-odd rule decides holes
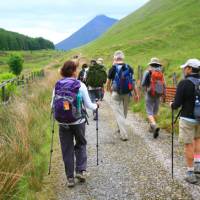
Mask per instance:
[[[0,106],[0,199],[36,199],[47,173],[55,74]],[[27,92],[28,91],[28,92]]]

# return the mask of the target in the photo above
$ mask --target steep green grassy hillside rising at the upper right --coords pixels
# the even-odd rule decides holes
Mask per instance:
[[[151,0],[114,25],[106,34],[81,48],[83,54],[104,57],[121,49],[132,65],[146,66],[157,56],[168,77],[190,57],[199,57],[200,0]],[[80,51],[80,49],[78,49]]]

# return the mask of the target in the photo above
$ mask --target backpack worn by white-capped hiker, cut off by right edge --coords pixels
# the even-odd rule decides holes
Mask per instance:
[[[200,122],[200,79],[194,77],[188,77],[187,79],[195,85],[194,117]]]

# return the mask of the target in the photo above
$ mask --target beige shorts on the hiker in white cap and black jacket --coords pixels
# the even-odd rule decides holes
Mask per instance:
[[[184,119],[179,121],[179,142],[191,144],[194,139],[200,138],[200,124],[194,124]]]

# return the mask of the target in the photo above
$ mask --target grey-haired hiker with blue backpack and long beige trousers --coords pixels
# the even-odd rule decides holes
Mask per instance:
[[[124,53],[116,51],[114,53],[113,66],[110,68],[107,80],[107,91],[112,95],[113,111],[117,120],[118,132],[122,141],[128,140],[128,124],[126,117],[128,104],[132,91],[138,100],[139,95],[133,79],[133,69],[124,62]]]

